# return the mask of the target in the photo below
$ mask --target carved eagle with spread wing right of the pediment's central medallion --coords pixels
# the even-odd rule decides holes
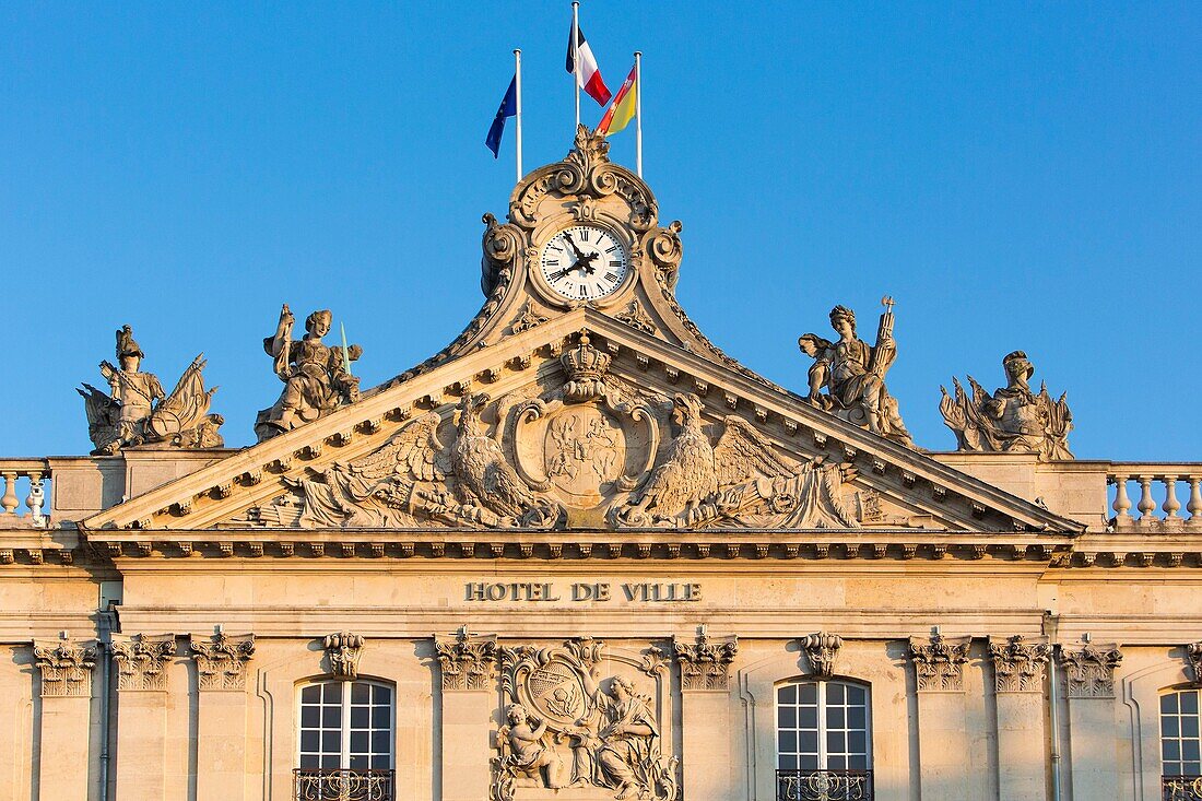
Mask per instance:
[[[737,416],[722,421],[715,444],[701,417],[701,399],[673,398],[679,433],[661,463],[613,520],[624,526],[745,526],[856,528],[856,505],[844,498],[850,465],[822,458],[793,462]]]

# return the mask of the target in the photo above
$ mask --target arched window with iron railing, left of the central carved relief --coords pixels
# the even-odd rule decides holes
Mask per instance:
[[[320,681],[299,688],[296,797],[389,801],[393,688],[368,681]]]

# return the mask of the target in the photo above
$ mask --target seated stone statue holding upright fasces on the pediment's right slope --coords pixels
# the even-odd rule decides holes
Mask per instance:
[[[893,298],[886,297],[876,345],[856,336],[856,313],[837,305],[831,327],[839,334],[832,343],[815,333],[802,334],[798,348],[814,358],[809,370],[809,400],[820,409],[857,423],[906,447],[915,447],[902,422],[897,400],[885,387],[885,374],[897,358],[893,342]],[[822,388],[826,394],[821,393]]]

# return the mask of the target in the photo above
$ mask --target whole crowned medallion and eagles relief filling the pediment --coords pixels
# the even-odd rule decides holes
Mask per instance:
[[[581,332],[560,376],[417,415],[375,451],[286,479],[248,522],[302,528],[858,528],[885,522],[851,464],[791,458],[746,420],[611,374]],[[537,394],[534,394],[537,392]]]

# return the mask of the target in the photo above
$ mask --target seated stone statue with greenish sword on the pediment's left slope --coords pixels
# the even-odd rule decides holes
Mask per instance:
[[[358,345],[331,348],[322,343],[332,321],[328,309],[314,312],[304,322],[304,337],[293,340],[294,318],[288,304],[284,304],[275,334],[263,339],[263,350],[275,361],[275,374],[284,381],[284,391],[270,409],[263,409],[255,419],[258,441],[359,399],[359,379],[351,375],[351,362],[363,355],[363,349]]]

